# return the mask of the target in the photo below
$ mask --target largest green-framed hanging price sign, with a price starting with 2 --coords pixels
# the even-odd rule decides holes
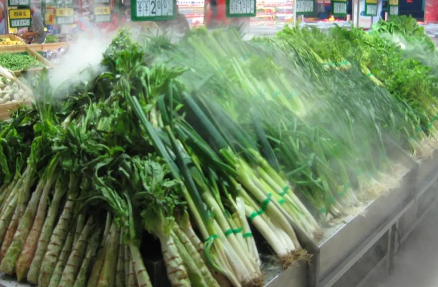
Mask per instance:
[[[133,21],[172,20],[175,14],[175,0],[131,0]]]

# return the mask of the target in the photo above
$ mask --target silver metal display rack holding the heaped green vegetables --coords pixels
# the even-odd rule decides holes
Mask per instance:
[[[303,246],[311,253],[308,262],[287,270],[279,264],[263,264],[265,287],[368,287],[375,274],[390,273],[394,255],[417,223],[435,204],[438,189],[438,150],[416,160],[398,149],[394,156],[407,168],[400,185],[370,200],[314,243],[297,229]],[[167,287],[162,260],[147,261],[154,286]],[[30,287],[11,277],[0,278],[0,287]]]

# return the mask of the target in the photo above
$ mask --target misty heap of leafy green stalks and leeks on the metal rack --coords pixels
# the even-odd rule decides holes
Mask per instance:
[[[172,286],[253,287],[263,247],[285,268],[308,258],[297,234],[318,241],[397,184],[390,148],[436,144],[433,107],[382,76],[413,63],[399,55],[376,72],[367,53],[391,42],[328,33],[246,42],[196,29],[142,45],[121,30],[93,80],[67,93],[43,72],[33,107],[0,122],[0,272],[41,287],[148,287],[145,260],[161,249]],[[318,46],[330,37],[368,41]]]

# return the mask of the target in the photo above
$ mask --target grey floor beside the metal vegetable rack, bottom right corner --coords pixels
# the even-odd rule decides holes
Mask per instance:
[[[438,205],[414,229],[395,257],[392,275],[375,287],[438,287]]]

